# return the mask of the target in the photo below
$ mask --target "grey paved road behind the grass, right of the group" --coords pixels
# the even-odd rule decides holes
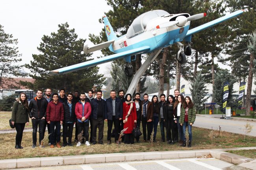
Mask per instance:
[[[250,123],[253,126],[250,136],[256,136],[256,122],[242,121],[238,119],[219,119],[214,117],[197,116],[193,126],[217,130],[221,126],[222,131],[245,134],[245,124]]]

